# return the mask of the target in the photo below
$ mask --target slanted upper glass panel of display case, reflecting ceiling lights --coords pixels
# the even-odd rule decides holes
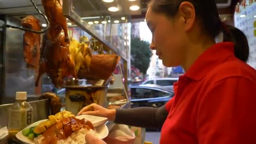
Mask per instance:
[[[128,24],[123,13],[111,16],[108,6],[102,0],[72,0],[71,16],[75,23],[93,30],[100,40],[106,41],[112,49],[128,59]]]

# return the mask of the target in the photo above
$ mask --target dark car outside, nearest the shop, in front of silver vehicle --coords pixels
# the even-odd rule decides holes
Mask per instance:
[[[131,107],[161,107],[173,96],[173,91],[160,85],[131,85]]]

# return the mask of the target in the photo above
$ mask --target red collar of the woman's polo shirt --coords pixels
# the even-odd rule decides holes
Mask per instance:
[[[234,44],[231,42],[217,43],[205,50],[184,76],[193,80],[201,80],[211,69],[222,64],[229,56],[235,56]]]

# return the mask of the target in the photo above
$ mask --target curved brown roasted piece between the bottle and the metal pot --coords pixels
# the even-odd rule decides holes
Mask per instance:
[[[43,93],[39,99],[50,99],[51,115],[61,111],[61,99],[55,93]]]

